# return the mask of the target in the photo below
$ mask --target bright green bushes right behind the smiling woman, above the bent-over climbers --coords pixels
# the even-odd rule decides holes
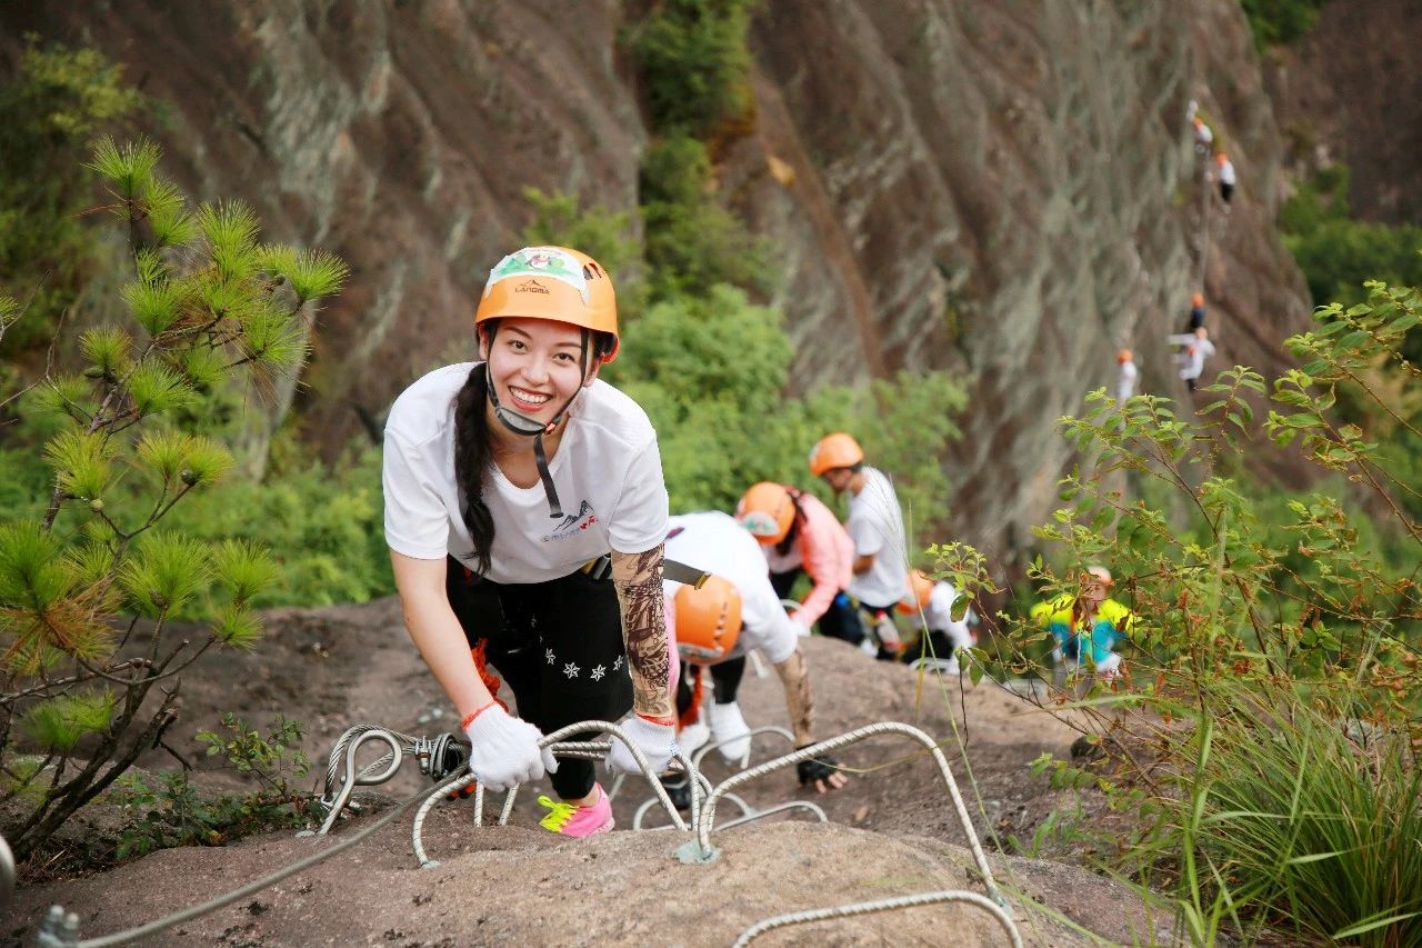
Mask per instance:
[[[732,510],[761,480],[823,493],[811,483],[806,453],[826,431],[848,430],[896,475],[906,508],[926,521],[927,511],[946,515],[943,457],[960,436],[948,416],[964,404],[961,389],[944,374],[903,373],[869,389],[825,386],[792,399],[784,394],[792,356],[779,313],[729,286],[668,299],[638,319],[637,344],[607,377],[657,428],[671,508]],[[883,423],[904,406],[920,424]]]

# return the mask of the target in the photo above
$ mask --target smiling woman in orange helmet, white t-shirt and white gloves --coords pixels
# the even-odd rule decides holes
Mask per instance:
[[[419,379],[385,427],[385,541],[405,625],[464,717],[474,776],[498,790],[546,771],[563,803],[546,804],[543,826],[602,833],[611,807],[592,762],[559,764],[538,740],[633,710],[623,729],[651,764],[673,754],[657,437],[597,379],[619,335],[594,259],[510,253],[489,273],[475,329],[483,362]],[[640,770],[621,743],[610,763]]]

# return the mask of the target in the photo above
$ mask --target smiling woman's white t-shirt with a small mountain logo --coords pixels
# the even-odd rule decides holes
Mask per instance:
[[[385,421],[385,542],[415,559],[452,555],[471,569],[474,542],[454,477],[454,399],[476,363],[435,369],[405,389]],[[657,434],[641,407],[597,380],[567,410],[549,473],[567,514],[552,520],[543,484],[483,480],[493,517],[489,579],[543,582],[613,549],[644,552],[667,535]]]

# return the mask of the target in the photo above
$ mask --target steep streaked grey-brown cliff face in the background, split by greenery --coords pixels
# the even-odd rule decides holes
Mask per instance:
[[[621,16],[610,0],[148,0],[9,4],[0,24],[122,61],[168,102],[152,131],[185,185],[350,260],[297,396],[334,448],[358,430],[351,406],[378,414],[466,356],[525,186],[636,206],[648,132]],[[758,118],[720,157],[720,194],[778,249],[795,384],[956,372],[971,404],[944,532],[1025,542],[1069,463],[1055,421],[1111,381],[1119,346],[1143,390],[1185,396],[1163,336],[1202,283],[1212,370],[1276,369],[1305,323],[1271,226],[1280,135],[1234,0],[776,0],[751,46]],[[1239,169],[1227,215],[1190,100]]]

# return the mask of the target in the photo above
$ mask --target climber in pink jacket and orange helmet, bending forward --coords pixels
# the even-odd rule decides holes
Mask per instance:
[[[855,544],[819,498],[761,481],[737,504],[735,518],[761,541],[771,585],[781,599],[789,596],[801,572],[809,575],[813,586],[791,613],[806,635],[819,622],[822,635],[856,645],[863,641],[863,623],[845,592],[853,576]]]

